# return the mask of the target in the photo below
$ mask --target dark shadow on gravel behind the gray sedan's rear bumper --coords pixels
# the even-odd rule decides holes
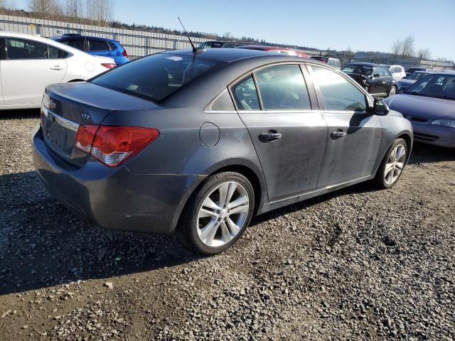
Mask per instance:
[[[80,220],[34,172],[0,176],[0,296],[198,259],[172,235],[115,232]]]

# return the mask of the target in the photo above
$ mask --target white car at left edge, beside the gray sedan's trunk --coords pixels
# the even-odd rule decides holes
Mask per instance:
[[[0,109],[39,108],[46,85],[88,80],[116,66],[54,40],[0,32]]]

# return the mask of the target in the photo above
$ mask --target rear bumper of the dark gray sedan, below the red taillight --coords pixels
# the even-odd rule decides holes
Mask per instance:
[[[88,161],[74,168],[33,134],[33,164],[53,197],[89,222],[123,231],[170,233],[196,175],[138,175]]]

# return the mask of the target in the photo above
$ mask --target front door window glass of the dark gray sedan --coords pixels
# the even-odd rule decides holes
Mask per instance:
[[[365,94],[338,73],[311,65],[312,79],[319,85],[326,110],[365,112]]]

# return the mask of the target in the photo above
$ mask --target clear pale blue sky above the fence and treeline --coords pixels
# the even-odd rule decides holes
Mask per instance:
[[[65,0],[60,0],[65,1]],[[92,0],[96,1],[96,0]],[[28,8],[28,0],[6,0]],[[412,35],[432,58],[455,60],[455,0],[116,0],[114,18],[189,31],[251,36],[311,48],[390,52]]]

